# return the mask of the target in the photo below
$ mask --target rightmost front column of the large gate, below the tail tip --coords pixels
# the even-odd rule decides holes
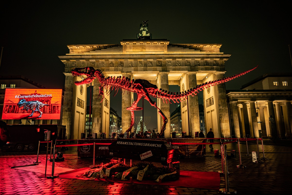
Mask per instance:
[[[217,72],[217,79],[224,78],[224,72]],[[219,110],[219,122],[221,129],[221,137],[230,136],[230,125],[229,125],[229,115],[228,115],[228,105],[226,97],[225,83],[217,85],[218,90],[218,110]]]

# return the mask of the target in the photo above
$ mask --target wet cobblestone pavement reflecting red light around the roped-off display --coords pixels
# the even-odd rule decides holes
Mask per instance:
[[[277,144],[277,141],[264,141],[265,158],[268,160],[263,161],[263,163],[253,163],[252,157],[246,156],[246,143],[241,142],[241,164],[245,165],[246,168],[237,168],[237,165],[240,164],[238,144],[227,144],[229,157],[231,150],[236,151],[236,158],[227,158],[228,172],[230,173],[228,174],[229,189],[236,190],[237,194],[290,194],[292,190],[291,141],[278,142]],[[255,143],[248,143],[250,154],[252,151],[257,151],[258,147]],[[206,156],[175,158],[174,161],[180,161],[181,170],[214,172],[222,170],[221,158],[214,157],[214,152],[209,149],[208,145],[206,146]],[[214,145],[214,149],[219,148],[220,145]],[[56,162],[55,166],[77,169],[92,165],[92,158],[78,158],[76,150],[77,147],[72,146],[69,147],[69,150],[62,151],[65,161]],[[261,145],[259,145],[259,151],[260,158],[262,158]],[[45,164],[45,154],[45,152],[39,154],[41,164]],[[220,194],[219,190],[199,188],[75,180],[59,177],[47,179],[41,173],[11,168],[12,166],[32,164],[34,161],[36,161],[36,152],[0,152],[0,194]],[[95,160],[95,164],[102,162],[107,163],[109,159],[96,158]],[[48,165],[51,164],[48,161]],[[221,174],[220,176],[220,188],[225,188],[225,175]],[[208,181],[201,182],[208,183]]]

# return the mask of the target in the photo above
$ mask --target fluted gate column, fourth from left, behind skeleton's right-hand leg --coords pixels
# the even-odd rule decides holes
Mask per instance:
[[[160,72],[160,88],[169,91],[168,87],[168,72]],[[163,103],[163,101],[160,101],[160,109],[164,113],[164,115],[167,118],[167,123],[164,131],[164,137],[170,137],[170,107],[169,103]],[[160,117],[160,124],[163,125],[163,119]],[[161,127],[158,127],[158,132]]]

